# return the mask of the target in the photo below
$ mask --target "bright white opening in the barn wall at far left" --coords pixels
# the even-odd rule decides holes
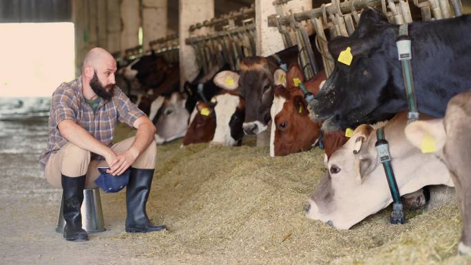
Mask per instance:
[[[0,97],[51,96],[74,79],[73,23],[0,23]]]

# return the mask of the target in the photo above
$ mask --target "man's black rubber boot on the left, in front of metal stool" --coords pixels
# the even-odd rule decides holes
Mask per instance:
[[[83,202],[85,176],[70,178],[62,175],[63,215],[65,220],[64,238],[68,241],[87,241],[88,235],[82,229],[80,208]]]

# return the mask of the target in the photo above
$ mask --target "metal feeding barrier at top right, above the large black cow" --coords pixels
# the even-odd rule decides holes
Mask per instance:
[[[300,24],[302,21],[311,21],[316,34],[315,46],[322,55],[326,75],[330,76],[334,61],[328,52],[328,40],[337,36],[350,36],[357,27],[359,15],[364,8],[378,8],[386,14],[390,23],[398,25],[410,23],[413,19],[431,21],[463,14],[461,0],[412,0],[413,5],[420,9],[420,14],[412,14],[408,0],[345,0],[343,2],[332,0],[331,3],[324,3],[319,8],[282,14],[282,5],[289,1],[291,0],[273,2],[277,14],[268,17],[268,24],[270,27],[278,28],[285,47],[292,45],[289,31],[292,30],[295,33],[297,47],[300,50],[299,61],[306,78],[313,77],[318,72],[318,68],[306,29]]]

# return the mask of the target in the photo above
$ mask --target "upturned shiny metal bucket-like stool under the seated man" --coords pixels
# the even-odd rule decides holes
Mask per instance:
[[[59,208],[59,218],[57,218],[57,233],[64,233],[65,220],[63,215],[63,198]],[[97,233],[105,231],[103,221],[103,211],[101,210],[100,190],[98,188],[83,189],[83,203],[80,209],[82,214],[82,228],[87,233]]]

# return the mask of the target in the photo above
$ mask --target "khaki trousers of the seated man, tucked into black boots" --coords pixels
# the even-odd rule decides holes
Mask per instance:
[[[134,137],[127,138],[114,144],[111,149],[118,154],[126,151],[134,142]],[[152,141],[149,147],[140,153],[132,167],[136,169],[155,169],[156,142]],[[56,188],[61,188],[61,174],[67,177],[79,177],[87,174],[85,188],[94,188],[94,180],[100,176],[98,167],[108,167],[106,160],[91,160],[91,153],[81,149],[72,142],[67,142],[59,151],[52,153],[45,166],[44,175],[48,182]]]

